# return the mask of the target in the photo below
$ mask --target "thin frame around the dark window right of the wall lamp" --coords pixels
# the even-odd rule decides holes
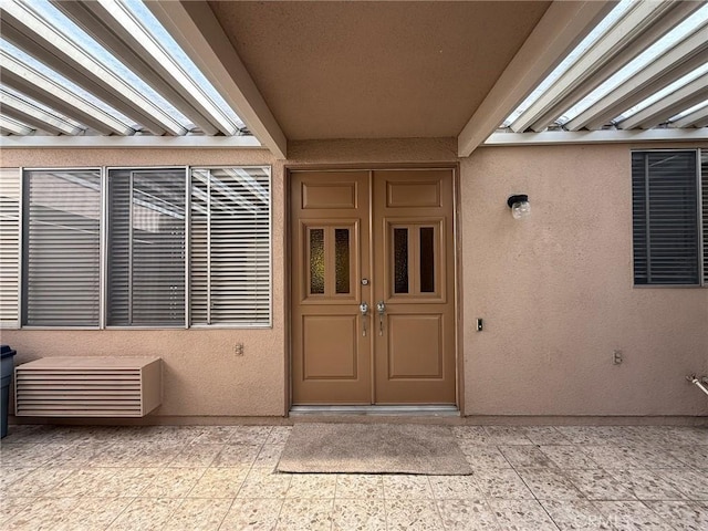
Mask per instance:
[[[629,185],[631,185],[631,202],[634,204],[634,189],[633,189],[633,179],[632,175],[632,157],[634,154],[660,154],[660,153],[694,153],[696,159],[696,175],[695,175],[695,186],[696,186],[696,229],[697,229],[697,239],[698,246],[696,249],[696,261],[698,267],[698,281],[696,283],[665,283],[665,282],[647,282],[644,284],[639,284],[636,282],[636,273],[635,273],[635,240],[634,240],[634,206],[632,207],[632,282],[633,288],[638,289],[700,289],[708,288],[708,263],[705,263],[705,249],[708,246],[708,233],[705,231],[705,227],[708,225],[708,220],[704,219],[704,196],[708,196],[708,175],[704,175],[702,171],[702,157],[708,154],[708,148],[700,147],[674,147],[674,148],[633,148],[629,149]],[[646,179],[645,179],[646,184]],[[705,191],[704,191],[705,189]]]

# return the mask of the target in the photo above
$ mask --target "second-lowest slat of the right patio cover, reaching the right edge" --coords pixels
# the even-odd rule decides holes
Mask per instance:
[[[647,129],[668,122],[671,116],[704,102],[708,97],[708,74],[684,85],[648,107],[633,114],[617,124],[620,129]]]

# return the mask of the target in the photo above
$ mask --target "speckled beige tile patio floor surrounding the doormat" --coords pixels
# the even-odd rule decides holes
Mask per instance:
[[[3,530],[708,530],[708,428],[452,427],[472,476],[274,472],[285,426],[11,426]]]

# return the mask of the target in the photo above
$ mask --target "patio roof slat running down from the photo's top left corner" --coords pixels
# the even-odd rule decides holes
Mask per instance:
[[[155,135],[187,131],[158,105],[74,44],[29,4],[3,3],[2,37],[44,64],[51,65],[96,97],[135,119]]]

